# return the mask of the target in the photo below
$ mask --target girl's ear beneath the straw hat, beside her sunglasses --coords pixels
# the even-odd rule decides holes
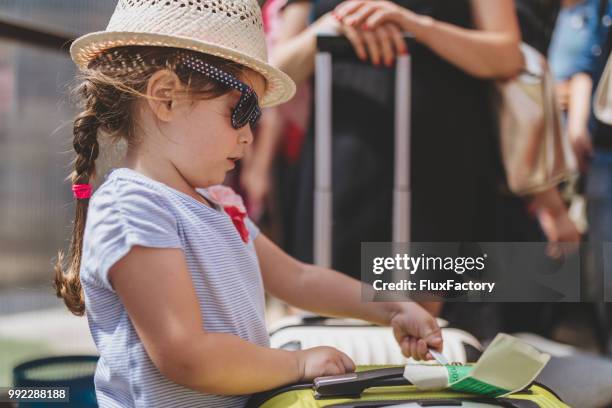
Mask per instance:
[[[167,69],[154,73],[147,83],[147,103],[159,120],[169,122],[176,110],[176,95],[183,89],[178,76]]]

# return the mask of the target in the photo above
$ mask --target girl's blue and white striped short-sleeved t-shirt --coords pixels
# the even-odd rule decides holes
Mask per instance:
[[[201,194],[208,195],[205,190]],[[211,201],[209,199],[209,201]],[[269,346],[264,291],[253,239],[240,237],[230,217],[193,197],[121,168],[107,175],[89,203],[81,281],[89,328],[100,360],[100,407],[242,407],[246,396],[216,396],[164,377],[149,358],[108,271],[134,245],[181,248],[197,294],[203,329]]]

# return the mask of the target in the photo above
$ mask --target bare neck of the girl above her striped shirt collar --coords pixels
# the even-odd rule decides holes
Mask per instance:
[[[154,155],[141,155],[128,149],[125,166],[212,207],[211,203],[198,193],[195,187],[187,182],[172,162],[165,158],[154,157]]]

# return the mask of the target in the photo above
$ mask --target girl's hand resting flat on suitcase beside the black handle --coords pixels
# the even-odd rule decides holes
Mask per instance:
[[[340,375],[355,371],[355,363],[333,347],[313,347],[297,351],[300,380],[310,381],[326,375]]]

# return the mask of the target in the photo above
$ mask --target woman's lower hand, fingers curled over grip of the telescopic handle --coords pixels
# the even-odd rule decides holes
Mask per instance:
[[[363,30],[342,23],[335,12],[325,14],[315,24],[320,30],[344,35],[360,60],[366,61],[369,57],[376,66],[384,63],[391,67],[397,55],[407,53],[402,32],[395,24],[381,24],[375,29]]]

